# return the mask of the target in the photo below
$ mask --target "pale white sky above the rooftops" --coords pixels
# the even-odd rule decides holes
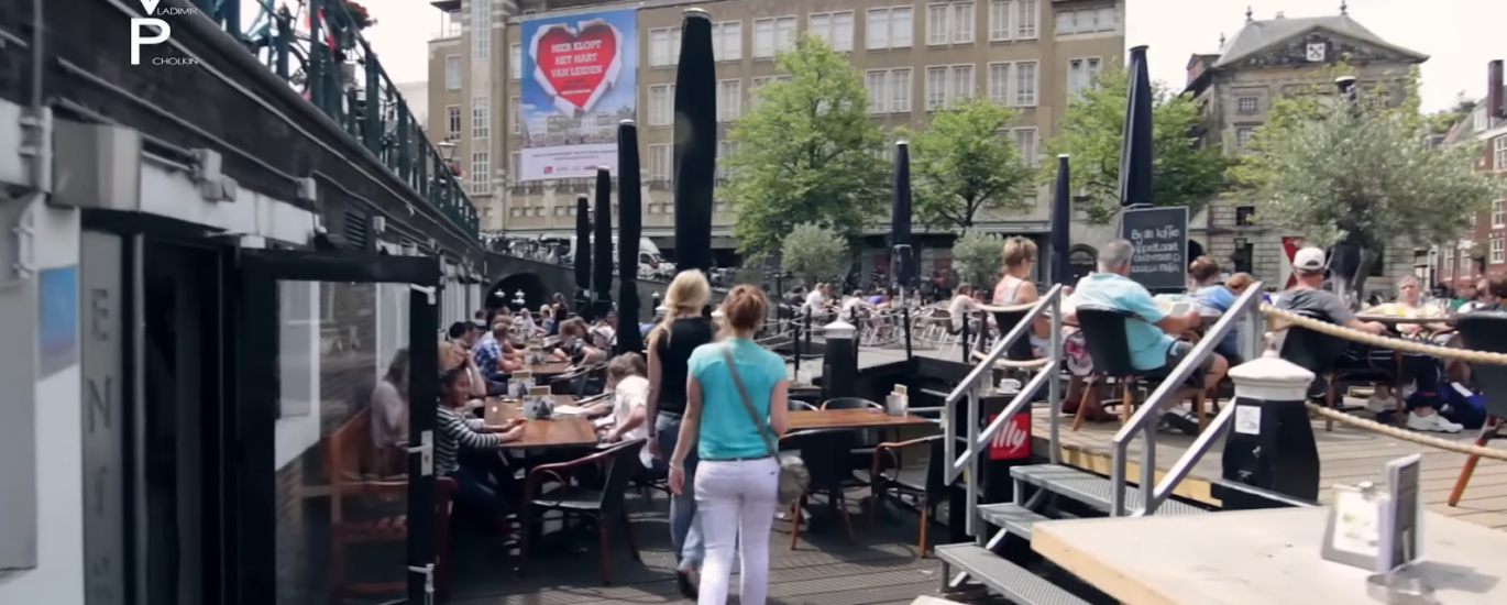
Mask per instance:
[[[273,0],[262,0],[273,2]],[[286,0],[276,0],[286,3]],[[429,38],[440,30],[440,11],[428,0],[360,0],[377,18],[365,32],[393,81],[428,78]],[[978,0],[984,2],[984,0]],[[1266,20],[1335,15],[1341,0],[1127,0],[1126,48],[1150,47],[1151,78],[1181,86],[1194,53],[1213,53],[1219,33],[1233,38],[1249,6]],[[1382,39],[1429,54],[1423,63],[1424,110],[1448,109],[1462,91],[1469,98],[1486,92],[1486,62],[1507,59],[1507,2],[1504,0],[1347,0],[1350,18]],[[258,3],[246,8],[255,14]],[[247,21],[249,23],[249,21]]]

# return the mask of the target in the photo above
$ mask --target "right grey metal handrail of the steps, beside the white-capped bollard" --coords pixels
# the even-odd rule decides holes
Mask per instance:
[[[1136,413],[1130,416],[1130,421],[1126,422],[1123,427],[1120,427],[1120,431],[1115,433],[1112,447],[1114,457],[1109,469],[1111,516],[1126,516],[1127,513],[1126,511],[1126,492],[1129,490],[1129,486],[1126,484],[1126,472],[1129,466],[1127,457],[1130,450],[1130,441],[1135,439],[1136,431],[1141,431],[1144,439],[1141,448],[1141,460],[1139,460],[1141,465],[1139,486],[1142,490],[1144,507],[1136,514],[1151,514],[1156,511],[1156,507],[1159,507],[1163,501],[1166,501],[1166,498],[1172,493],[1172,489],[1177,487],[1177,483],[1181,481],[1185,477],[1188,477],[1188,472],[1192,471],[1198,459],[1201,459],[1213,447],[1216,436],[1222,431],[1224,427],[1228,425],[1230,418],[1233,418],[1234,413],[1233,412],[1236,407],[1234,403],[1221,410],[1219,416],[1215,418],[1215,422],[1210,424],[1203,431],[1203,435],[1198,436],[1197,441],[1194,441],[1194,447],[1189,448],[1188,453],[1185,453],[1180,460],[1177,460],[1177,465],[1174,465],[1171,472],[1168,472],[1168,475],[1162,480],[1162,484],[1156,483],[1157,427],[1153,421],[1160,419],[1162,416],[1160,413],[1162,401],[1165,401],[1168,397],[1174,397],[1175,394],[1181,392],[1185,389],[1183,383],[1194,373],[1194,368],[1198,368],[1198,365],[1203,364],[1204,358],[1207,358],[1210,353],[1215,352],[1215,347],[1219,345],[1219,342],[1225,338],[1225,335],[1228,335],[1230,330],[1234,329],[1234,326],[1240,324],[1242,321],[1245,323],[1245,327],[1240,332],[1240,355],[1245,356],[1246,361],[1254,361],[1260,358],[1261,333],[1266,332],[1264,315],[1261,315],[1261,282],[1251,284],[1251,287],[1246,288],[1239,299],[1236,299],[1234,305],[1231,305],[1230,309],[1219,317],[1219,321],[1215,321],[1215,326],[1210,327],[1209,332],[1206,332],[1198,339],[1198,344],[1194,345],[1192,353],[1183,358],[1183,361],[1177,364],[1175,368],[1172,368],[1172,373],[1162,380],[1162,383],[1156,388],[1156,391],[1151,392],[1150,397],[1147,397],[1145,403],[1141,404],[1141,409],[1138,409]],[[1203,385],[1200,385],[1198,388],[1203,388]],[[1129,404],[1129,401],[1126,404]]]

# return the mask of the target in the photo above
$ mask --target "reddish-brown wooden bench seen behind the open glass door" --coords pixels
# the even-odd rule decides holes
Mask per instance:
[[[350,582],[345,554],[354,545],[407,542],[405,514],[408,477],[401,469],[402,454],[378,453],[372,447],[371,410],[363,409],[341,424],[326,441],[326,478],[330,481],[330,590],[332,600],[342,596],[392,594],[407,591],[407,581]],[[396,474],[387,471],[395,469]],[[384,474],[384,471],[387,471]],[[451,495],[455,481],[436,480],[436,591],[443,599],[451,588]],[[375,514],[353,513],[348,505],[377,504]],[[381,511],[389,505],[392,511]]]

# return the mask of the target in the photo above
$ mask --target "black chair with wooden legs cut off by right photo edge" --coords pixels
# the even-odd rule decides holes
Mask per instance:
[[[1460,332],[1460,344],[1465,349],[1507,353],[1507,312],[1460,314],[1454,327]],[[1475,438],[1477,447],[1486,447],[1499,435],[1502,418],[1507,418],[1507,365],[1472,362],[1471,382],[1486,395],[1486,421],[1481,422],[1481,431]],[[1450,490],[1448,502],[1451,507],[1460,504],[1460,496],[1465,495],[1465,487],[1471,483],[1471,475],[1475,474],[1475,465],[1480,460],[1480,456],[1465,459],[1460,477],[1454,480],[1454,489]]]

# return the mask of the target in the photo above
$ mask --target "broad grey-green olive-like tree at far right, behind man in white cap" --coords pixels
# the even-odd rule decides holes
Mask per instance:
[[[1326,83],[1316,88],[1332,91]],[[1388,243],[1456,240],[1501,193],[1501,183],[1475,172],[1478,146],[1433,145],[1429,119],[1418,112],[1417,71],[1408,89],[1397,107],[1332,94],[1275,103],[1230,170],[1239,195],[1257,207],[1261,223],[1317,246],[1361,246],[1362,281]]]

